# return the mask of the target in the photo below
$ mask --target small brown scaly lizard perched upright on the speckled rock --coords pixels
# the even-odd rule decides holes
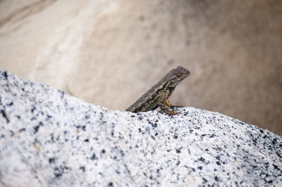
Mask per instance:
[[[152,89],[149,89],[143,96],[141,96],[133,105],[130,105],[125,111],[128,112],[147,112],[161,108],[167,115],[176,115],[178,112],[168,110],[169,108],[178,107],[178,105],[171,105],[168,102],[169,96],[177,84],[188,77],[190,72],[183,67],[178,66],[176,69],[168,72]]]

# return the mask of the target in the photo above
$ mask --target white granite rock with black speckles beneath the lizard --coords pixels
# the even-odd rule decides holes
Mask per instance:
[[[106,110],[0,71],[0,186],[282,186],[282,137],[195,108]]]

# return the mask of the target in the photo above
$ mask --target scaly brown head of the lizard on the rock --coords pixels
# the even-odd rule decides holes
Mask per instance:
[[[186,70],[184,67],[178,66],[176,69],[171,70],[168,72],[168,76],[165,77],[169,82],[169,87],[175,87],[179,84],[183,79],[188,77],[190,72]]]

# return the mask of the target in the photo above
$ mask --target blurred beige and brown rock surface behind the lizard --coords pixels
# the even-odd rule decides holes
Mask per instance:
[[[124,110],[169,70],[171,103],[282,134],[280,0],[2,0],[0,68]]]

